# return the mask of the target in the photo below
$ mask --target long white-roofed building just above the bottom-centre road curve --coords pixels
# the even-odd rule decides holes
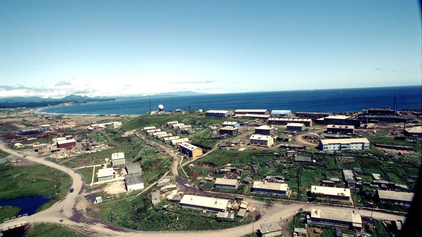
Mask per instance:
[[[182,209],[191,209],[207,212],[227,212],[231,206],[231,200],[213,197],[184,195],[179,205]]]

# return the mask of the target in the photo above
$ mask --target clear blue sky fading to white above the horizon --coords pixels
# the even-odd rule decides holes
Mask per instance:
[[[1,0],[0,97],[422,84],[416,0]]]

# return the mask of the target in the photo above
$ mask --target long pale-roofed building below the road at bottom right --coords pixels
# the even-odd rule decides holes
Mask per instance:
[[[353,231],[362,231],[362,218],[354,212],[312,209],[307,223],[308,225],[346,227]]]

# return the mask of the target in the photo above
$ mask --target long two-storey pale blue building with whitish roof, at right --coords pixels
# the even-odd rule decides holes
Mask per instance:
[[[322,139],[319,140],[319,149],[322,151],[368,150],[369,141],[367,138]]]

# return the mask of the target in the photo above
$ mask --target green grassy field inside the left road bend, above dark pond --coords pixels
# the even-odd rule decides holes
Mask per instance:
[[[0,199],[43,195],[53,200],[40,209],[46,209],[66,196],[71,179],[65,173],[42,165],[23,167],[0,166]]]

